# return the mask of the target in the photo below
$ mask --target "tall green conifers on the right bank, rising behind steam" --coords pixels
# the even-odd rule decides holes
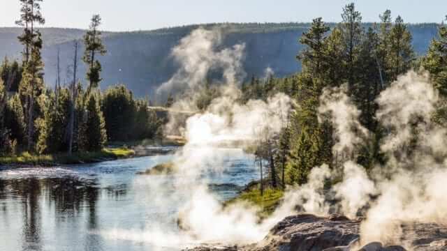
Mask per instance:
[[[353,157],[367,169],[386,162],[379,148],[386,130],[374,117],[378,109],[375,100],[410,69],[429,71],[434,86],[447,96],[447,27],[441,24],[439,38],[432,40],[427,55],[416,57],[411,33],[402,17],[393,20],[390,10],[386,10],[379,18],[378,23],[365,28],[353,3],[343,8],[342,22],[333,28],[318,17],[299,40],[305,46],[297,56],[302,64],[300,73],[285,78],[253,77],[242,85],[243,101],[265,100],[284,92],[296,103],[281,134],[263,141],[256,151],[261,170],[263,166],[265,170],[264,185],[277,188],[282,184],[285,188],[286,184],[306,183],[313,167],[323,163],[335,167]],[[348,149],[333,153],[336,139],[332,125],[328,120],[318,121],[323,89],[343,84],[361,111],[360,123],[373,135],[354,153]],[[446,111],[440,108],[434,119],[445,123]]]

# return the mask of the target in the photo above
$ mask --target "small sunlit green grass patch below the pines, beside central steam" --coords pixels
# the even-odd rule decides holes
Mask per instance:
[[[246,201],[249,204],[258,206],[261,211],[258,213],[259,218],[263,219],[271,215],[274,209],[279,206],[281,199],[284,196],[284,191],[280,189],[266,189],[263,196],[261,196],[261,190],[259,188],[252,188],[240,193],[234,199],[226,201],[225,206],[235,204],[240,201]]]

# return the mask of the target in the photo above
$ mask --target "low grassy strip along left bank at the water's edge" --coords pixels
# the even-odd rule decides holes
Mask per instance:
[[[72,155],[67,153],[38,155],[23,152],[20,155],[0,157],[0,165],[52,166],[58,164],[80,164],[129,158],[134,154],[133,150],[127,148],[103,149],[97,152],[73,153]]]

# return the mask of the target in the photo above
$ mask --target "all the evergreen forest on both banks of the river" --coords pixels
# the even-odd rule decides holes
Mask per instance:
[[[161,119],[148,109],[149,100],[135,99],[125,85],[112,86],[101,92],[101,56],[107,50],[101,40],[101,17],[94,15],[83,36],[84,52],[78,42],[73,43],[69,84],[61,85],[59,64],[54,86],[43,80],[41,32],[34,28],[44,24],[39,2],[21,0],[22,9],[17,25],[23,33],[18,37],[23,45],[22,61],[4,59],[0,67],[0,149],[2,155],[30,153],[71,154],[77,151],[101,151],[106,142],[126,142],[161,137]],[[267,100],[276,93],[286,93],[294,100],[294,110],[284,122],[279,135],[260,142],[254,149],[261,168],[264,165],[268,187],[286,188],[286,185],[307,182],[313,167],[330,163],[336,167],[344,159],[356,157],[368,168],[384,163],[381,140],[386,128],[374,114],[376,98],[392,82],[409,70],[430,73],[440,95],[447,95],[447,28],[438,27],[427,54],[419,56],[412,44],[409,24],[390,10],[379,15],[378,22],[365,25],[355,5],[343,8],[342,22],[328,24],[318,17],[298,43],[303,48],[296,52],[300,72],[287,77],[253,75],[240,86],[243,104],[249,100]],[[280,27],[281,28],[281,27]],[[287,26],[284,27],[286,29]],[[78,54],[88,69],[87,86],[78,75]],[[57,57],[59,62],[59,54]],[[331,121],[318,117],[319,98],[325,88],[345,88],[360,110],[360,123],[374,133],[371,142],[358,146],[356,152],[332,153],[335,144]],[[206,84],[196,107],[205,110],[220,95],[217,85]],[[175,97],[179,98],[179,96]],[[169,107],[175,98],[166,102]],[[446,107],[439,107],[434,121],[446,126]],[[417,118],[415,118],[415,124]],[[418,134],[415,130],[414,140]],[[416,144],[415,144],[416,145]],[[412,146],[406,146],[409,153]],[[264,164],[263,164],[264,162]],[[263,187],[263,185],[261,185]],[[261,189],[263,190],[263,189]]]

